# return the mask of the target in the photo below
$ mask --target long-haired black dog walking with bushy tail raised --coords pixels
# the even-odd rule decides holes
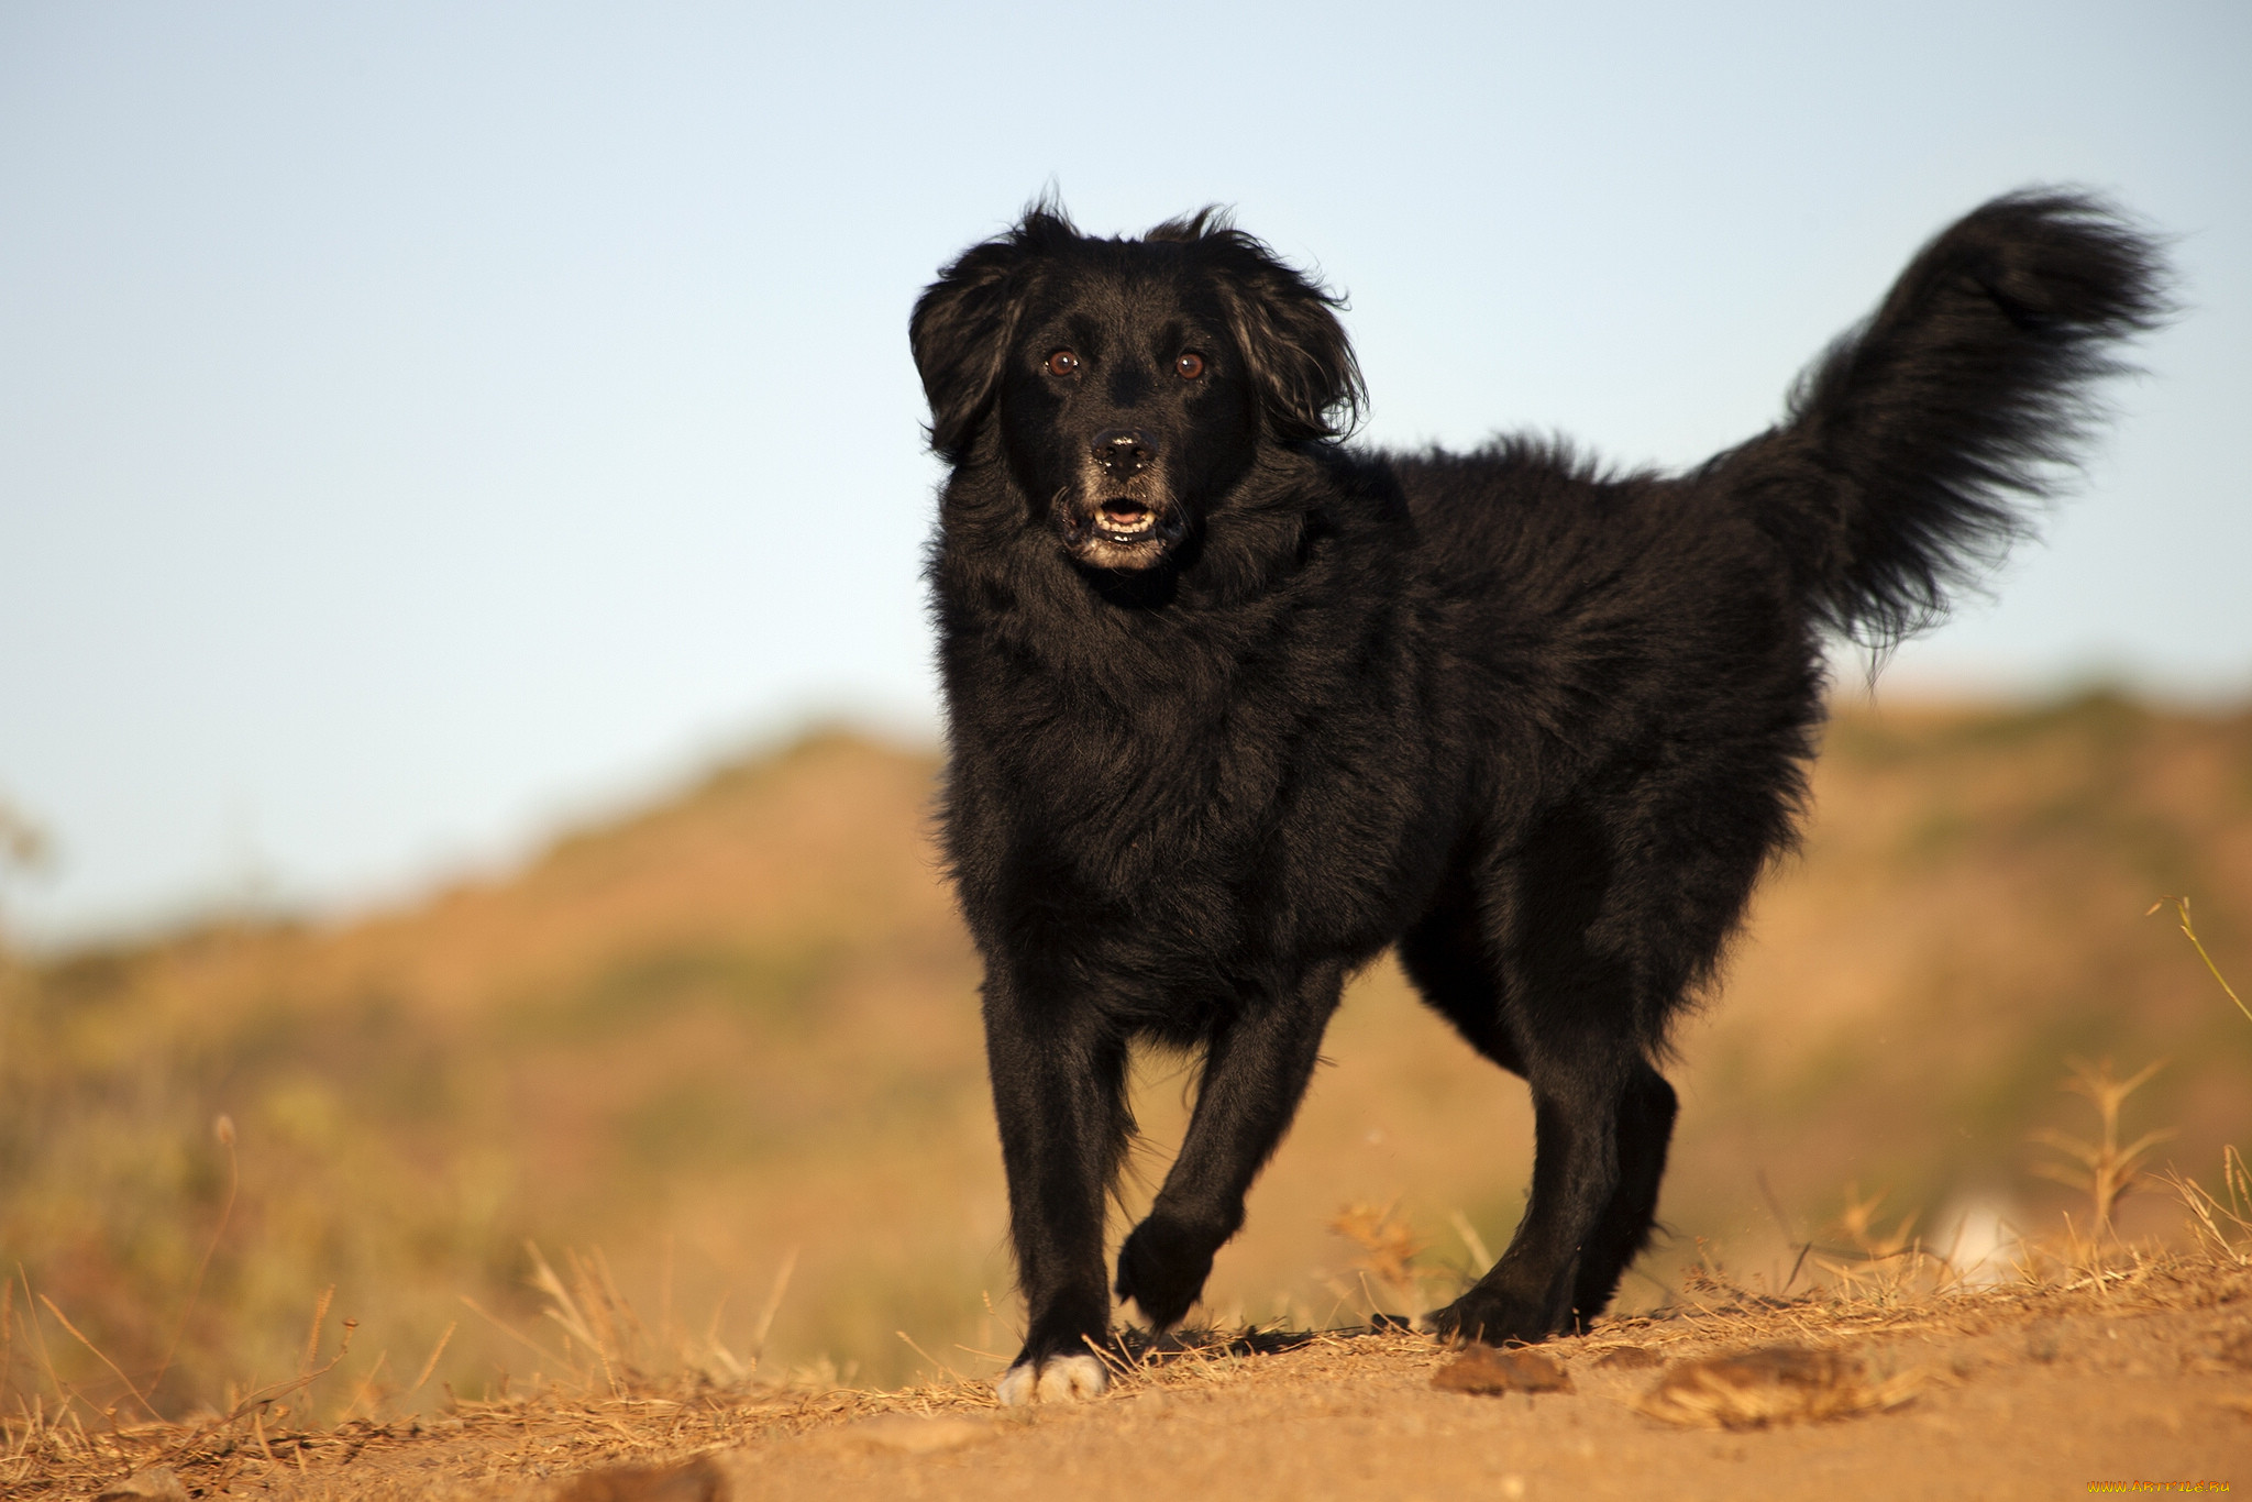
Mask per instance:
[[[1038,205],[914,306],[953,466],[930,588],[944,838],[984,955],[1025,1349],[1004,1403],[1101,1392],[1126,1049],[1203,1052],[1117,1257],[1153,1329],[1214,1252],[1387,946],[1531,1085],[1531,1203],[1430,1315],[1592,1320],[1642,1250],[1666,1027],[1793,842],[1824,640],[1885,644],[2025,529],[2155,245],[2085,196],[1923,248],[1781,426],[1678,475],[1525,439],[1340,444],[1340,299],[1205,212],[1090,239]]]

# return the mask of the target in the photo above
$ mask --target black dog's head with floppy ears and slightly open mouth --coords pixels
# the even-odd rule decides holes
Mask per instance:
[[[1009,466],[1079,563],[1158,567],[1261,444],[1340,437],[1362,387],[1342,297],[1214,209],[1090,239],[1038,205],[914,304],[930,446]]]

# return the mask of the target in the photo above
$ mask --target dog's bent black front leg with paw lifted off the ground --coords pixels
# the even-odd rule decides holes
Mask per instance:
[[[1153,1331],[1203,1297],[1212,1254],[1243,1225],[1243,1196],[1290,1130],[1342,984],[1342,966],[1315,966],[1277,995],[1245,998],[1212,1038],[1180,1157],[1119,1248],[1119,1297]]]

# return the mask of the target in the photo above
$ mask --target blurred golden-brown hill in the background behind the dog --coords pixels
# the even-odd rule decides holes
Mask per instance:
[[[1016,1304],[977,964],[928,842],[935,775],[930,754],[822,732],[410,910],[0,957],[0,1266],[18,1272],[0,1401],[47,1365],[124,1396],[27,1320],[38,1295],[146,1389],[230,1173],[151,1394],[167,1414],[295,1371],[329,1286],[360,1322],[363,1398],[554,1369],[527,1243],[577,1248],[649,1344],[689,1360],[989,1369]],[[2252,1144],[2252,1022],[2146,917],[2196,898],[2216,959],[2252,977],[2252,712],[2110,694],[1849,709],[1815,797],[1718,1004],[1680,1034],[1675,1239],[1633,1297],[1700,1254],[1781,1275],[1849,1184],[1941,1248],[1973,1203],[2047,1230],[2074,1198],[2029,1173],[2045,1151],[2027,1135],[2092,1130],[2056,1088],[2067,1056],[2121,1074],[2169,1058],[2128,1133],[2175,1128],[2162,1157],[2184,1171]],[[1464,1225],[1500,1248],[1516,1221],[1522,1088],[1389,962],[1356,982],[1326,1056],[1221,1257],[1214,1317],[1331,1322],[1410,1297],[1353,1270],[1329,1230],[1347,1205],[1396,1207],[1439,1268],[1468,1263]],[[1140,1076],[1149,1182],[1185,1083],[1178,1061]],[[2128,1230],[2175,1223],[2144,1196]]]

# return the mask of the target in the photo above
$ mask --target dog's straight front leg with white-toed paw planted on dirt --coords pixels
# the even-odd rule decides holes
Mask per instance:
[[[1002,1403],[1092,1398],[1110,1338],[1103,1207],[1133,1119],[1126,1045],[1094,1007],[1034,993],[993,966],[986,1065],[1009,1171],[1009,1236],[1029,1329]]]

